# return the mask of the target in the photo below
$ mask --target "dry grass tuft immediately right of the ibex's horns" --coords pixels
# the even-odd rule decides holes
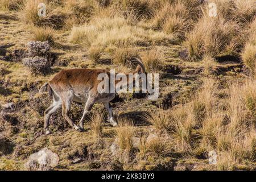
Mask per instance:
[[[148,73],[159,72],[164,63],[164,54],[159,49],[151,49],[150,51],[145,52],[141,57],[146,72]]]

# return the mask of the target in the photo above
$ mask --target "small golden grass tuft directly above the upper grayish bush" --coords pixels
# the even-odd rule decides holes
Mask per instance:
[[[54,43],[55,31],[51,27],[33,27],[32,34],[36,41]]]

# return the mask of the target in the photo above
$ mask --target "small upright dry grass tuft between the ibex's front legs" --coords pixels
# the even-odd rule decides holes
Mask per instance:
[[[92,129],[95,138],[101,137],[103,125],[104,113],[93,113],[90,118],[90,129]]]

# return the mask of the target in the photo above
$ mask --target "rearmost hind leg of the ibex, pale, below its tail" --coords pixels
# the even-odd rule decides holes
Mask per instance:
[[[49,118],[52,114],[56,113],[56,111],[60,110],[62,106],[62,101],[59,96],[53,94],[53,102],[51,106],[49,106],[46,111],[44,111],[44,129],[46,130],[46,134],[51,134],[49,130]]]

